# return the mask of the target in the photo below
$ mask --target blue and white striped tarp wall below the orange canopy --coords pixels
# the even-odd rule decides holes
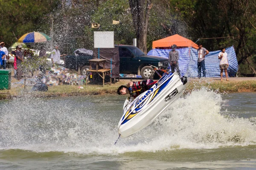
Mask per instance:
[[[197,49],[179,48],[176,50],[179,52],[179,68],[181,76],[197,77]],[[148,52],[148,55],[168,58],[169,51],[170,49],[153,49]],[[218,59],[219,52],[220,50],[211,51],[208,55],[205,56],[206,77],[220,77],[220,60]],[[229,68],[227,69],[227,72],[229,76],[235,77],[236,72],[238,71],[238,63],[236,59],[235,49],[233,48],[233,46],[231,46],[229,48],[226,48],[226,52],[229,62]]]

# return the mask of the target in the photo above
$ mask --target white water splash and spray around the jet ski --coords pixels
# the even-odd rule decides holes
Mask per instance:
[[[178,99],[153,124],[113,145],[121,116],[114,112],[122,113],[118,110],[122,107],[116,109],[119,103],[105,100],[105,108],[93,107],[90,100],[72,99],[16,99],[1,104],[5,112],[0,114],[0,147],[118,154],[256,143],[256,126],[249,119],[222,115],[221,95],[201,89]]]

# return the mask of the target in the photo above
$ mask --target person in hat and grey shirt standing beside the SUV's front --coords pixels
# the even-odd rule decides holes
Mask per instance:
[[[177,74],[179,74],[180,76],[180,69],[179,69],[179,63],[178,63],[179,52],[176,51],[177,45],[173,44],[171,48],[172,48],[172,51],[169,52],[169,63],[171,65],[172,73],[174,73],[176,69]]]

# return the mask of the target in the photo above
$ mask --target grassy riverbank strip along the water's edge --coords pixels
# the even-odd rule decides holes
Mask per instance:
[[[55,96],[83,96],[83,95],[103,95],[116,94],[116,89],[131,80],[122,79],[114,84],[102,85],[57,85],[49,86],[47,92],[32,92],[32,87],[23,86],[11,88],[10,90],[0,91],[0,99],[12,99],[20,97],[55,97]],[[136,79],[133,81],[141,81]],[[79,88],[82,87],[82,88]],[[237,93],[237,92],[256,92],[256,78],[252,77],[236,77],[230,78],[230,81],[223,82],[219,78],[193,79],[189,78],[189,83],[186,88],[186,93],[201,88],[218,91],[219,93]]]

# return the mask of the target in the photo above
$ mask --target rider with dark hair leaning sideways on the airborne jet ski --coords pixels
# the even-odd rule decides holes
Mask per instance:
[[[140,82],[128,82],[126,85],[121,85],[117,89],[117,94],[130,94],[132,97],[136,98],[143,92],[149,90],[156,82],[157,81],[154,82],[152,79],[147,79]]]

